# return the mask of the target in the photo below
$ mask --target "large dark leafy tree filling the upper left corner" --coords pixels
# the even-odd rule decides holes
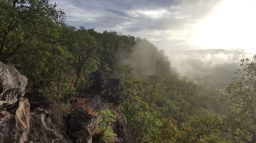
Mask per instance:
[[[0,61],[9,63],[15,55],[54,46],[56,24],[64,19],[56,5],[48,0],[1,0],[0,4]]]

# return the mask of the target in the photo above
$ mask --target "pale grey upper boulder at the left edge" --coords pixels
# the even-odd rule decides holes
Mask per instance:
[[[11,64],[0,62],[0,109],[11,110],[24,96],[27,77],[20,74]]]

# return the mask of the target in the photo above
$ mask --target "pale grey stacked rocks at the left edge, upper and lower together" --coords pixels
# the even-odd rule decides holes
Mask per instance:
[[[30,104],[22,98],[27,78],[0,62],[0,143],[28,141]]]

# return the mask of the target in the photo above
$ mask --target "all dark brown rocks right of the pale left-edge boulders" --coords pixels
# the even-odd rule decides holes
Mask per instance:
[[[56,105],[50,104],[44,97],[44,92],[38,89],[28,89],[25,97],[31,104],[30,140],[34,142],[94,142],[92,137],[97,123],[97,112],[110,109],[117,113],[117,121],[112,125],[117,137],[115,142],[133,142],[131,131],[127,127],[126,118],[119,111],[122,85],[118,79],[106,79],[102,72],[97,71],[92,76],[93,87],[90,92],[80,92],[83,95],[76,98],[72,112],[65,112]]]

